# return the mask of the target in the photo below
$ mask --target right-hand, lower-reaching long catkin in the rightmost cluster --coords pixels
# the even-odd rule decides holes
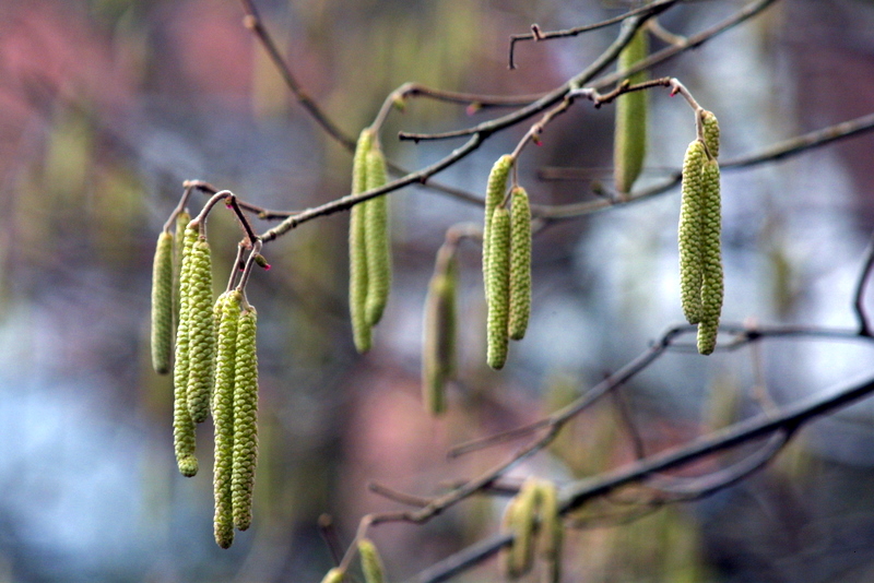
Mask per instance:
[[[717,345],[717,332],[719,318],[722,313],[723,297],[719,164],[713,159],[706,162],[701,176],[704,183],[704,213],[701,219],[702,276],[698,352],[707,355],[711,354]]]

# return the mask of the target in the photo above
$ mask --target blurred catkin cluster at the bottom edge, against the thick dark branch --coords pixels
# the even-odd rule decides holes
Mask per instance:
[[[547,566],[545,581],[562,580],[564,526],[555,484],[528,478],[504,512],[504,530],[512,533],[512,545],[504,550],[504,570],[511,579],[534,567],[539,555]]]

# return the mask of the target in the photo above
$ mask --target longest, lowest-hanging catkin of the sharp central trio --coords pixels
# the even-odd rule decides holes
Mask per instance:
[[[486,361],[495,370],[504,368],[507,361],[509,334],[507,324],[510,316],[510,214],[498,206],[492,217],[488,237],[488,321],[486,335],[488,349]]]

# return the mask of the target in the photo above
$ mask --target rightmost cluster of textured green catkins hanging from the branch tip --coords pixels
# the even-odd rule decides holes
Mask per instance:
[[[693,140],[683,160],[680,290],[686,320],[698,324],[698,352],[710,354],[717,345],[723,295],[719,122],[710,111],[697,115],[704,140]]]

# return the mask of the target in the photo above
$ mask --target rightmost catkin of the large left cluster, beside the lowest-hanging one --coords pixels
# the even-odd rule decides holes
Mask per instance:
[[[234,526],[240,531],[252,520],[252,486],[258,460],[258,355],[253,307],[243,311],[237,324],[234,362],[234,465],[231,497]]]

